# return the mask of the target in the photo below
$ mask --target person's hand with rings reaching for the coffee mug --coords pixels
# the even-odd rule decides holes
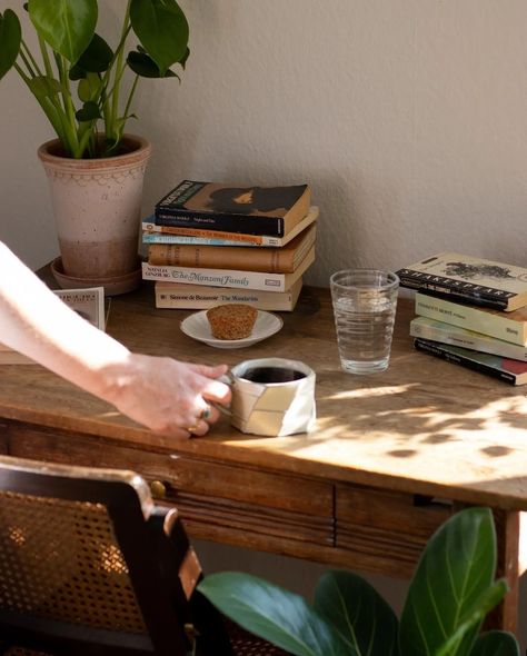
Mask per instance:
[[[123,415],[155,433],[201,436],[219,418],[218,409],[207,401],[230,401],[230,388],[216,380],[227,369],[130,354],[126,362],[106,368],[108,397]]]

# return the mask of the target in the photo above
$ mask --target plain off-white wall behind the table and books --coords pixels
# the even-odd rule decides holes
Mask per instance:
[[[527,266],[525,0],[182,4],[182,83],[142,81],[129,125],[155,148],[145,213],[182,178],[307,181],[321,209],[308,282],[439,250]],[[125,0],[100,6],[115,33]],[[14,73],[0,98],[0,233],[37,268],[58,252],[36,157],[53,135]]]

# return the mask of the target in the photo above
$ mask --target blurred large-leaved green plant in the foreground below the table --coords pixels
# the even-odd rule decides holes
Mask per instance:
[[[199,589],[225,615],[295,656],[519,656],[513,634],[480,633],[507,593],[495,569],[493,515],[468,508],[428,541],[400,619],[349,571],[325,574],[312,606],[247,574],[209,575]]]

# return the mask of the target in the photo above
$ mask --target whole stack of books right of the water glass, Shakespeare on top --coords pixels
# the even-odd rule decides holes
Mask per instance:
[[[397,274],[417,290],[410,335],[418,350],[527,382],[527,269],[441,252]]]

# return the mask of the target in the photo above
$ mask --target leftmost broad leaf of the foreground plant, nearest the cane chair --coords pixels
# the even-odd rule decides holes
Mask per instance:
[[[295,656],[358,656],[302,597],[256,576],[212,574],[198,589],[240,626]]]

